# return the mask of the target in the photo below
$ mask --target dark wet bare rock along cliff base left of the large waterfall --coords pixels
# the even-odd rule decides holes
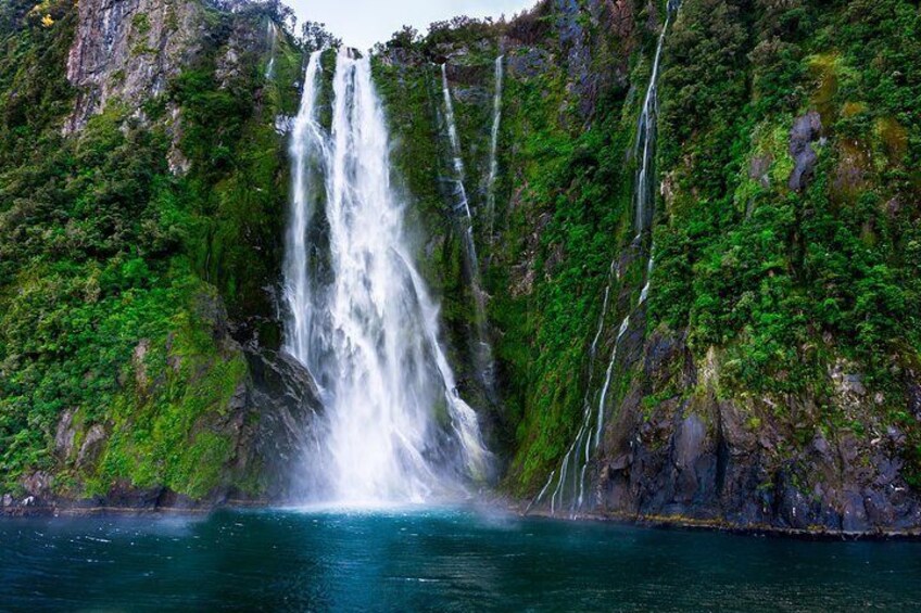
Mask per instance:
[[[0,515],[45,514],[51,512],[90,512],[99,509],[157,511],[163,509],[209,509],[227,502],[283,502],[298,499],[306,486],[297,467],[306,461],[317,439],[321,411],[319,393],[310,373],[290,356],[256,345],[244,350],[251,375],[241,384],[226,407],[219,423],[210,429],[234,442],[234,457],[224,467],[225,485],[209,496],[192,500],[166,487],[136,487],[115,483],[104,496],[91,498],[59,497],[55,476],[35,472],[22,482],[23,494],[0,498]],[[55,444],[62,460],[70,459],[74,470],[91,469],[111,434],[102,424],[92,425],[81,436],[78,449],[75,420],[65,411],[58,426]],[[237,484],[253,483],[258,491],[241,490]]]

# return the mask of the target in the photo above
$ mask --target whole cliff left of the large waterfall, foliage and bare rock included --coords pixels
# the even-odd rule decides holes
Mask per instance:
[[[301,487],[319,403],[276,352],[301,69],[276,9],[0,10],[2,512]]]

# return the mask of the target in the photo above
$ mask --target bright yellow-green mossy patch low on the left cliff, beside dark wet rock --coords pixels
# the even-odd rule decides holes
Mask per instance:
[[[115,399],[111,438],[87,475],[88,494],[127,482],[201,498],[227,484],[235,451],[227,407],[247,379],[245,361],[216,346],[209,323],[193,311],[179,311],[168,329],[151,342],[143,362],[162,379],[141,385],[136,365],[131,391]]]

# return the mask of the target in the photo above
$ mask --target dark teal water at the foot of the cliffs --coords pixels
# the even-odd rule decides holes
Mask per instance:
[[[472,510],[0,521],[0,610],[921,610],[921,544]]]

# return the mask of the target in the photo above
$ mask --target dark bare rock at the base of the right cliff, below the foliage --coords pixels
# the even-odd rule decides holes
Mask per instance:
[[[632,353],[644,358],[606,431],[603,512],[752,529],[872,533],[921,525],[921,501],[900,473],[906,437],[898,430],[873,432],[869,418],[872,434],[824,431],[811,397],[720,399],[719,369],[695,366],[680,337],[653,335]],[[849,405],[858,420],[872,416],[859,376],[830,379],[838,406]],[[644,396],[669,385],[683,394],[644,409]]]

